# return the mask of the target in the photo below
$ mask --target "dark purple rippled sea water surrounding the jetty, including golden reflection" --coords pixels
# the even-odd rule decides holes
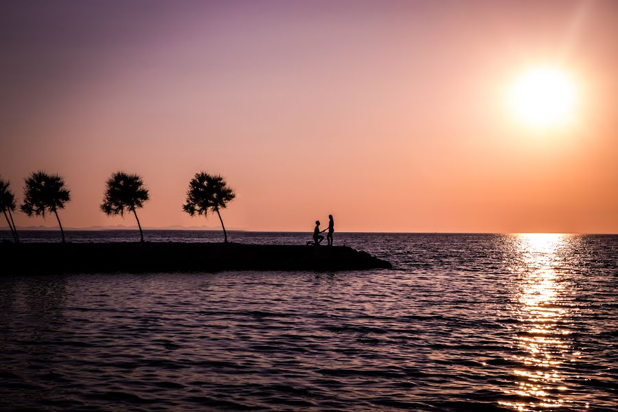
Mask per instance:
[[[618,236],[335,241],[395,268],[1,277],[0,409],[618,410]]]

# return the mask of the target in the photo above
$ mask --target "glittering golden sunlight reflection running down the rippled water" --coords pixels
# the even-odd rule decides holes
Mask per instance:
[[[580,355],[565,340],[569,335],[570,291],[556,270],[561,254],[569,253],[570,235],[522,233],[514,239],[518,285],[513,290],[514,317],[520,330],[516,345],[525,353],[516,356],[523,367],[513,370],[518,388],[505,390],[524,401],[500,402],[518,411],[569,408],[569,387],[560,367]],[[586,404],[586,408],[589,407]]]

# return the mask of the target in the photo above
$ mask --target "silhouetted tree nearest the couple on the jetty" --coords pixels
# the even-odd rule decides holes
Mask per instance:
[[[191,216],[195,216],[195,214],[207,216],[208,211],[216,212],[221,221],[225,243],[227,243],[227,232],[225,225],[223,225],[220,209],[225,209],[227,203],[235,197],[236,193],[221,176],[198,172],[189,182],[187,203],[183,205],[183,210]]]

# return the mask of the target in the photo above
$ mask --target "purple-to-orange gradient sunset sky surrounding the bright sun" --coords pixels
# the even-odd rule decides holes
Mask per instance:
[[[618,233],[618,2],[3,1],[0,176],[65,177],[65,227],[112,172],[142,225],[201,170],[237,192],[227,228]],[[518,119],[517,79],[559,67],[577,104]],[[16,214],[18,226],[52,218]]]

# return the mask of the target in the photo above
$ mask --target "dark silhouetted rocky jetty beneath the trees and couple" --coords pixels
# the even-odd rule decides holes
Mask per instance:
[[[347,246],[242,243],[2,242],[5,275],[25,273],[174,273],[220,271],[352,271],[392,268]]]

